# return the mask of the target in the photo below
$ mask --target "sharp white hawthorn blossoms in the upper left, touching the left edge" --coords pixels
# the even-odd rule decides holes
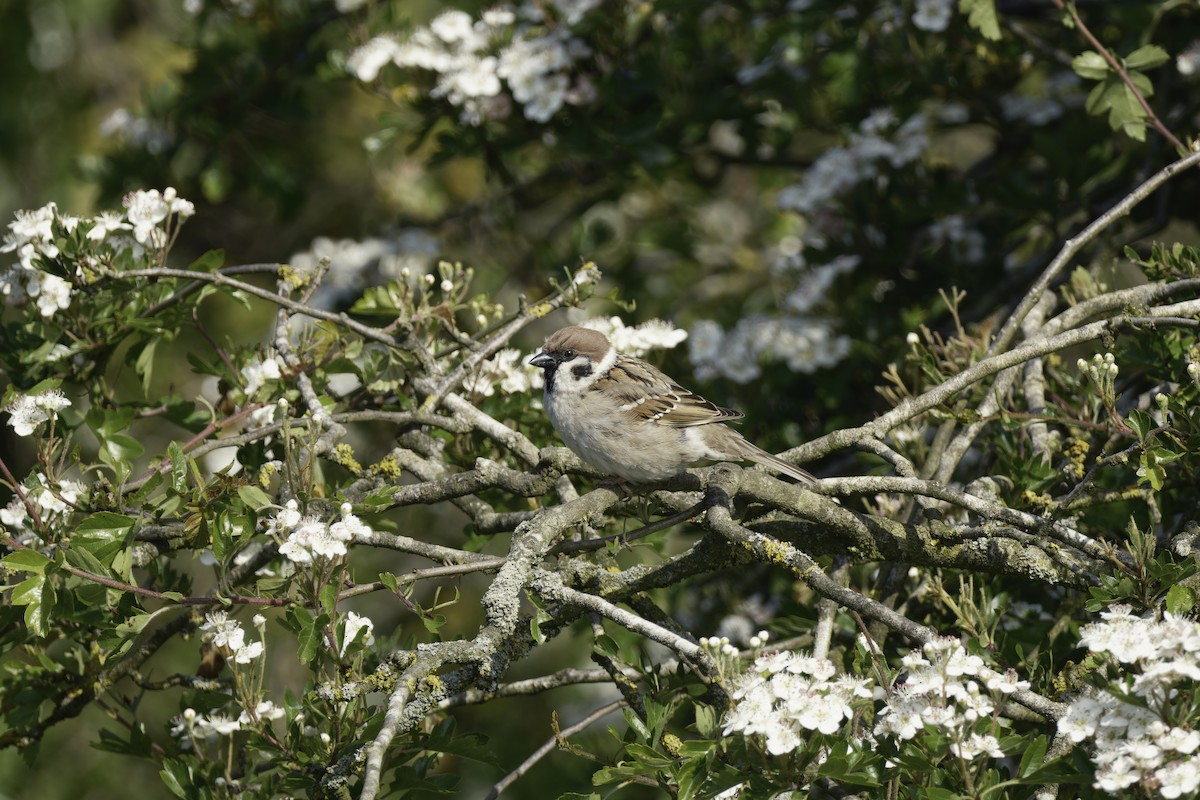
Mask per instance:
[[[91,218],[59,213],[54,203],[41,209],[17,211],[8,223],[8,233],[0,243],[0,253],[16,253],[17,263],[0,272],[0,295],[5,303],[22,306],[32,300],[38,313],[47,319],[71,307],[74,287],[54,271],[61,270],[56,260],[62,254],[60,240],[83,231],[86,245],[97,251],[79,259],[72,277],[77,284],[85,279],[84,267],[95,266],[100,258],[112,258],[128,249],[140,259],[146,249],[161,251],[170,243],[173,227],[196,213],[196,206],[167,188],[131,192],[122,200],[125,212],[102,211]],[[103,247],[101,247],[103,246]]]

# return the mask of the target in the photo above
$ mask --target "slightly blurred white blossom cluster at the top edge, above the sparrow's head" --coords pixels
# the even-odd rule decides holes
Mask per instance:
[[[532,2],[497,6],[479,19],[446,11],[404,40],[372,38],[350,54],[346,66],[367,83],[388,64],[432,72],[437,78],[430,96],[458,108],[466,125],[505,119],[514,101],[527,119],[546,122],[564,104],[582,106],[595,97],[590,80],[574,74],[592,49],[571,35],[570,26],[599,0],[550,5],[559,24],[547,24],[542,6]]]

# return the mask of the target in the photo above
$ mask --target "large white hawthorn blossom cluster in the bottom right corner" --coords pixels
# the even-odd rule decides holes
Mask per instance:
[[[1200,622],[1165,613],[1144,619],[1114,606],[1081,631],[1080,643],[1122,664],[1108,686],[1076,698],[1058,733],[1087,742],[1093,786],[1126,796],[1139,786],[1151,796],[1200,792]]]

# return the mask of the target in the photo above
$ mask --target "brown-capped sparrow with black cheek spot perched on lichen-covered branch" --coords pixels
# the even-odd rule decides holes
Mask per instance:
[[[545,372],[546,414],[558,435],[604,473],[644,483],[678,475],[697,461],[752,461],[802,483],[816,481],[726,425],[742,419],[740,411],[618,353],[599,331],[564,327],[529,363]]]

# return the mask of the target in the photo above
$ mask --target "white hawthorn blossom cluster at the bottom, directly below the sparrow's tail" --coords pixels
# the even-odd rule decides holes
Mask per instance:
[[[869,680],[839,674],[827,658],[772,652],[734,682],[725,735],[763,736],[767,751],[781,756],[803,745],[806,732],[840,730],[872,694]]]

